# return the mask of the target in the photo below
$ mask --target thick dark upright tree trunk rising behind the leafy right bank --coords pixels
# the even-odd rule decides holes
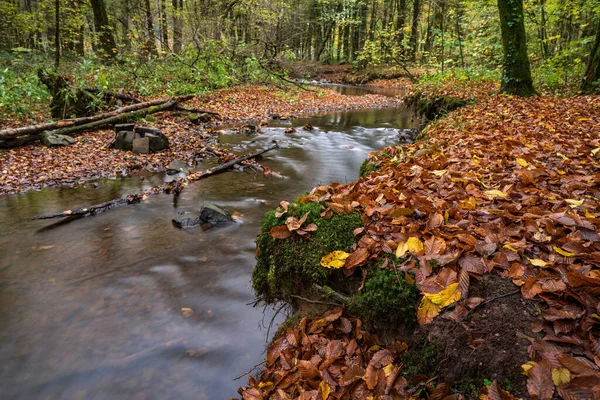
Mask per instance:
[[[532,96],[536,92],[527,56],[523,0],[498,0],[498,10],[504,48],[500,90],[517,96]]]

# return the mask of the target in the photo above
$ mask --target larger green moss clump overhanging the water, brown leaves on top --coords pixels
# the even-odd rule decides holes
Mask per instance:
[[[262,223],[262,233],[256,240],[257,262],[252,273],[252,286],[256,295],[266,302],[290,301],[291,295],[302,294],[314,284],[323,285],[341,271],[324,268],[321,258],[334,250],[347,250],[356,242],[352,231],[362,226],[360,214],[335,214],[330,219],[321,218],[323,207],[318,203],[293,203],[288,213],[277,218],[275,212],[267,213]],[[305,225],[314,223],[318,229],[308,239],[292,236],[275,239],[269,230],[285,223],[290,215],[308,218]]]

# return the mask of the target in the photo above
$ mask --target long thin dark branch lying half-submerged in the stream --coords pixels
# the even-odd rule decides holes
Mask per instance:
[[[267,147],[266,149],[263,149],[263,150],[260,150],[260,151],[254,152],[254,153],[246,154],[244,156],[237,157],[226,163],[217,165],[215,167],[209,168],[204,171],[195,172],[185,178],[180,178],[180,179],[174,180],[172,182],[165,183],[164,185],[153,186],[153,187],[146,189],[140,193],[129,194],[124,198],[112,199],[112,200],[106,201],[104,203],[96,204],[96,205],[86,207],[86,208],[66,210],[63,212],[55,213],[55,214],[38,215],[36,217],[33,217],[32,219],[36,220],[36,219],[52,219],[52,218],[66,218],[66,217],[87,217],[90,215],[96,215],[96,214],[102,213],[104,211],[108,211],[115,207],[124,206],[124,205],[128,205],[128,204],[137,204],[137,203],[141,202],[142,200],[144,200],[150,194],[158,194],[158,193],[171,194],[172,193],[175,196],[177,196],[179,193],[181,193],[181,191],[183,189],[185,189],[186,183],[195,182],[200,179],[204,179],[209,176],[224,172],[236,164],[259,157],[262,154],[266,153],[267,151],[271,151],[271,150],[277,149],[277,148],[279,148],[279,145],[277,143],[275,143],[272,146]]]

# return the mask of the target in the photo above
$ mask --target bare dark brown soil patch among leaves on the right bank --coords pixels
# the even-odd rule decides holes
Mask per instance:
[[[488,274],[472,284],[469,296],[490,300],[516,289],[510,280]],[[465,386],[475,385],[478,389],[484,379],[510,383],[513,394],[524,396],[527,378],[521,375],[520,366],[529,360],[529,341],[523,336],[532,335],[530,327],[538,304],[518,292],[481,304],[460,323],[436,318],[417,329],[409,347],[423,346],[424,341],[437,343],[441,354],[434,375],[442,382],[453,383],[455,389],[462,385],[467,398]]]

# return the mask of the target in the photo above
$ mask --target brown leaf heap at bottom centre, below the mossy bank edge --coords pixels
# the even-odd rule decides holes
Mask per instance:
[[[260,379],[250,378],[239,393],[244,400],[459,398],[448,396],[449,385],[427,377],[409,385],[401,374],[407,348],[403,342],[383,348],[360,320],[336,308],[282,332],[269,347]]]

